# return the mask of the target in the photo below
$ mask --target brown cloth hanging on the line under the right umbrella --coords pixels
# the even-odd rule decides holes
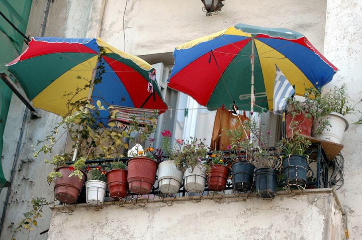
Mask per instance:
[[[238,114],[241,122],[250,121],[246,116]],[[214,130],[211,137],[210,148],[212,151],[228,150],[227,147],[231,145],[230,137],[226,136],[227,130],[235,130],[240,126],[240,120],[237,115],[233,115],[231,111],[218,108],[216,111]]]

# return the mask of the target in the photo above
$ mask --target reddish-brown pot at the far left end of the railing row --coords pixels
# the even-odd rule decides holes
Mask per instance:
[[[55,198],[64,203],[75,203],[86,180],[86,173],[80,170],[83,177],[79,179],[77,176],[69,177],[74,171],[69,171],[69,166],[59,167],[56,171],[61,173],[62,177],[55,179]]]

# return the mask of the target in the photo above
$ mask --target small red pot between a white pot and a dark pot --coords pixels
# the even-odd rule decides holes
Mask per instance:
[[[229,177],[230,169],[224,165],[210,166],[208,186],[211,191],[224,191]]]

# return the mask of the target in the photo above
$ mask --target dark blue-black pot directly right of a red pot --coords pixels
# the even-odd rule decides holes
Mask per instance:
[[[250,192],[254,182],[255,166],[249,162],[236,162],[231,168],[234,190],[239,192]]]

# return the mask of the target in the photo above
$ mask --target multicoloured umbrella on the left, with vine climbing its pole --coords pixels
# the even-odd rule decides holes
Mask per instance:
[[[33,38],[28,49],[7,66],[34,107],[58,115],[68,112],[68,101],[85,99],[160,112],[167,109],[152,66],[100,38]]]

